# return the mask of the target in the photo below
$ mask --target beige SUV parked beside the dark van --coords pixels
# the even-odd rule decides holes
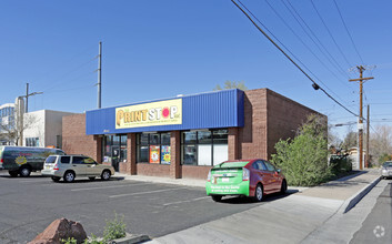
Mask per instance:
[[[84,155],[52,155],[44,161],[42,175],[51,176],[54,182],[62,177],[64,182],[72,182],[76,177],[101,177],[108,181],[114,174],[110,165],[98,164],[93,159]]]

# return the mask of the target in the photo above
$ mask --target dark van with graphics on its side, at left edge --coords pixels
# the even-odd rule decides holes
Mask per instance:
[[[44,160],[53,154],[66,153],[59,149],[0,145],[0,169],[13,177],[27,177],[32,171],[42,170]]]

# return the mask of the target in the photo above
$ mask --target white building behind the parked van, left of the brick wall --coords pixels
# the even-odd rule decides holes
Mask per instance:
[[[23,145],[62,148],[62,118],[74,113],[39,110],[24,114]]]

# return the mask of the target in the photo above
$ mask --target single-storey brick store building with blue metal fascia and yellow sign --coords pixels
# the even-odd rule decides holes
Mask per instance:
[[[312,113],[269,89],[233,89],[66,116],[62,143],[127,174],[205,179],[225,160],[270,159]]]

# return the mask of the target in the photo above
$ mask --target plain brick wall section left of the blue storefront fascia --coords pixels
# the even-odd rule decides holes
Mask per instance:
[[[62,118],[62,149],[67,154],[84,154],[100,163],[97,135],[86,135],[86,114]]]

